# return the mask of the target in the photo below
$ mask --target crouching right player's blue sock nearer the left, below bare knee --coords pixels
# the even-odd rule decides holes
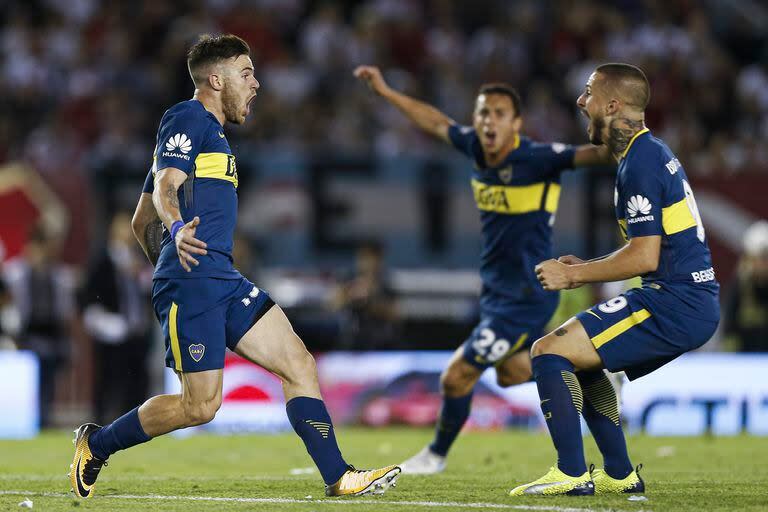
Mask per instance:
[[[562,356],[544,354],[534,357],[531,365],[541,412],[557,450],[557,467],[566,475],[581,476],[587,471],[579,419],[583,398],[573,364]]]

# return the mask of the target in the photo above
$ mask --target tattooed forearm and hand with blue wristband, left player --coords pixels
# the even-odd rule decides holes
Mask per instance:
[[[208,254],[205,242],[195,238],[195,231],[200,224],[200,218],[195,217],[186,224],[179,210],[179,187],[187,179],[187,174],[175,167],[166,167],[155,175],[155,190],[152,192],[152,203],[157,215],[171,233],[176,244],[179,263],[187,272],[192,271],[190,265],[200,263],[193,254]],[[174,228],[174,226],[176,226]]]

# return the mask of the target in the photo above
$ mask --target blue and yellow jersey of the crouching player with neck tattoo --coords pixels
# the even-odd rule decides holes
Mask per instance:
[[[704,225],[685,170],[647,128],[622,155],[614,199],[625,239],[661,236],[659,267],[643,276],[644,286],[665,288],[694,307],[717,297]]]

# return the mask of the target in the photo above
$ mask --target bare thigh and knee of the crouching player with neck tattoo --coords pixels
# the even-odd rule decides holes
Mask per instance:
[[[603,367],[600,355],[592,345],[584,326],[575,317],[538,339],[531,347],[531,357],[545,354],[555,354],[568,359],[576,370]]]

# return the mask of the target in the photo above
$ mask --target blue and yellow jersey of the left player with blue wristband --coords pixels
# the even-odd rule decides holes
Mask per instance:
[[[232,237],[237,221],[235,157],[221,124],[197,100],[177,103],[160,121],[150,174],[167,167],[189,175],[178,192],[181,217],[185,222],[200,217],[195,236],[208,244],[208,254],[195,255],[200,265],[186,272],[166,230],[154,277],[241,278],[232,266]],[[152,192],[152,181],[148,176],[144,192]]]

